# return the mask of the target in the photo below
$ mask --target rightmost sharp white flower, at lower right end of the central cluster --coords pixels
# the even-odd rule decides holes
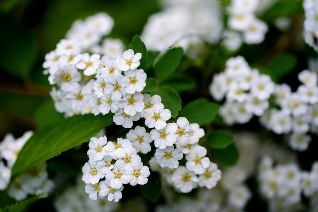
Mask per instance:
[[[211,189],[216,186],[216,183],[221,179],[221,171],[217,168],[215,163],[210,162],[205,172],[198,177],[200,187]]]

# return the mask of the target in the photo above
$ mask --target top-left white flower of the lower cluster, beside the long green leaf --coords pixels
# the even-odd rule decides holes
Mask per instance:
[[[99,138],[90,138],[90,141],[88,143],[89,150],[87,151],[88,158],[95,161],[102,160],[104,158],[102,150],[106,143],[107,137],[105,135]]]

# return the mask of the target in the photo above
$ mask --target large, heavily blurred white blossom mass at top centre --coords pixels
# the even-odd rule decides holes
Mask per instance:
[[[151,15],[141,33],[148,50],[166,51],[171,46],[187,50],[202,40],[215,43],[223,28],[220,3],[215,0],[160,2],[161,12]]]

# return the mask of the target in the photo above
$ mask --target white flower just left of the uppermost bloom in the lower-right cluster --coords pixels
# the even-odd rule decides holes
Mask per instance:
[[[176,132],[178,126],[176,123],[168,123],[167,126],[161,130],[152,129],[150,131],[151,139],[154,140],[154,146],[159,149],[165,149],[176,143]]]

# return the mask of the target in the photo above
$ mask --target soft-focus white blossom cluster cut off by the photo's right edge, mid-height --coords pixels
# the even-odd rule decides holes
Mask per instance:
[[[308,133],[318,133],[317,74],[305,69],[298,79],[301,85],[295,92],[287,84],[276,85],[274,96],[279,109],[270,108],[260,122],[276,134],[288,134],[293,150],[305,151],[311,141]]]

